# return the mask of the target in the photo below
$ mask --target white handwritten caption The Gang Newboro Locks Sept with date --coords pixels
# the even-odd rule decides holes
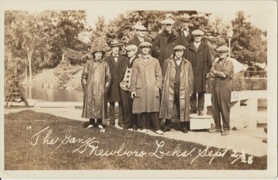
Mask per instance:
[[[211,139],[211,141],[208,142],[208,145],[204,149],[197,149],[196,147],[193,147],[189,150],[181,149],[180,144],[178,144],[171,150],[165,150],[165,141],[156,140],[156,142],[154,142],[154,150],[147,152],[144,150],[126,149],[125,143],[122,143],[122,145],[119,145],[119,147],[115,149],[103,149],[101,148],[101,142],[99,140],[96,140],[95,137],[87,139],[76,138],[72,136],[71,131],[72,126],[67,129],[64,137],[51,138],[50,136],[54,135],[52,134],[52,129],[47,126],[46,128],[42,129],[42,131],[35,133],[31,137],[31,145],[54,146],[55,149],[51,152],[53,153],[55,151],[58,151],[58,149],[62,146],[75,144],[78,145],[78,147],[76,149],[73,149],[72,153],[89,153],[89,156],[133,156],[138,158],[142,158],[145,156],[154,156],[155,158],[160,159],[166,156],[190,157],[193,158],[190,164],[193,164],[195,161],[197,161],[197,159],[204,157],[210,157],[211,160],[208,162],[208,164],[211,164],[215,157],[223,158],[225,155],[229,156],[227,152],[232,151],[230,156],[233,161],[231,161],[231,164],[234,164],[237,161],[247,164],[253,163],[253,156],[248,155],[248,151],[245,151],[244,149],[242,149],[240,152],[237,152],[236,149],[234,149],[233,147],[227,147],[225,149],[219,148],[216,151],[211,150],[210,148],[213,147],[215,138]]]

